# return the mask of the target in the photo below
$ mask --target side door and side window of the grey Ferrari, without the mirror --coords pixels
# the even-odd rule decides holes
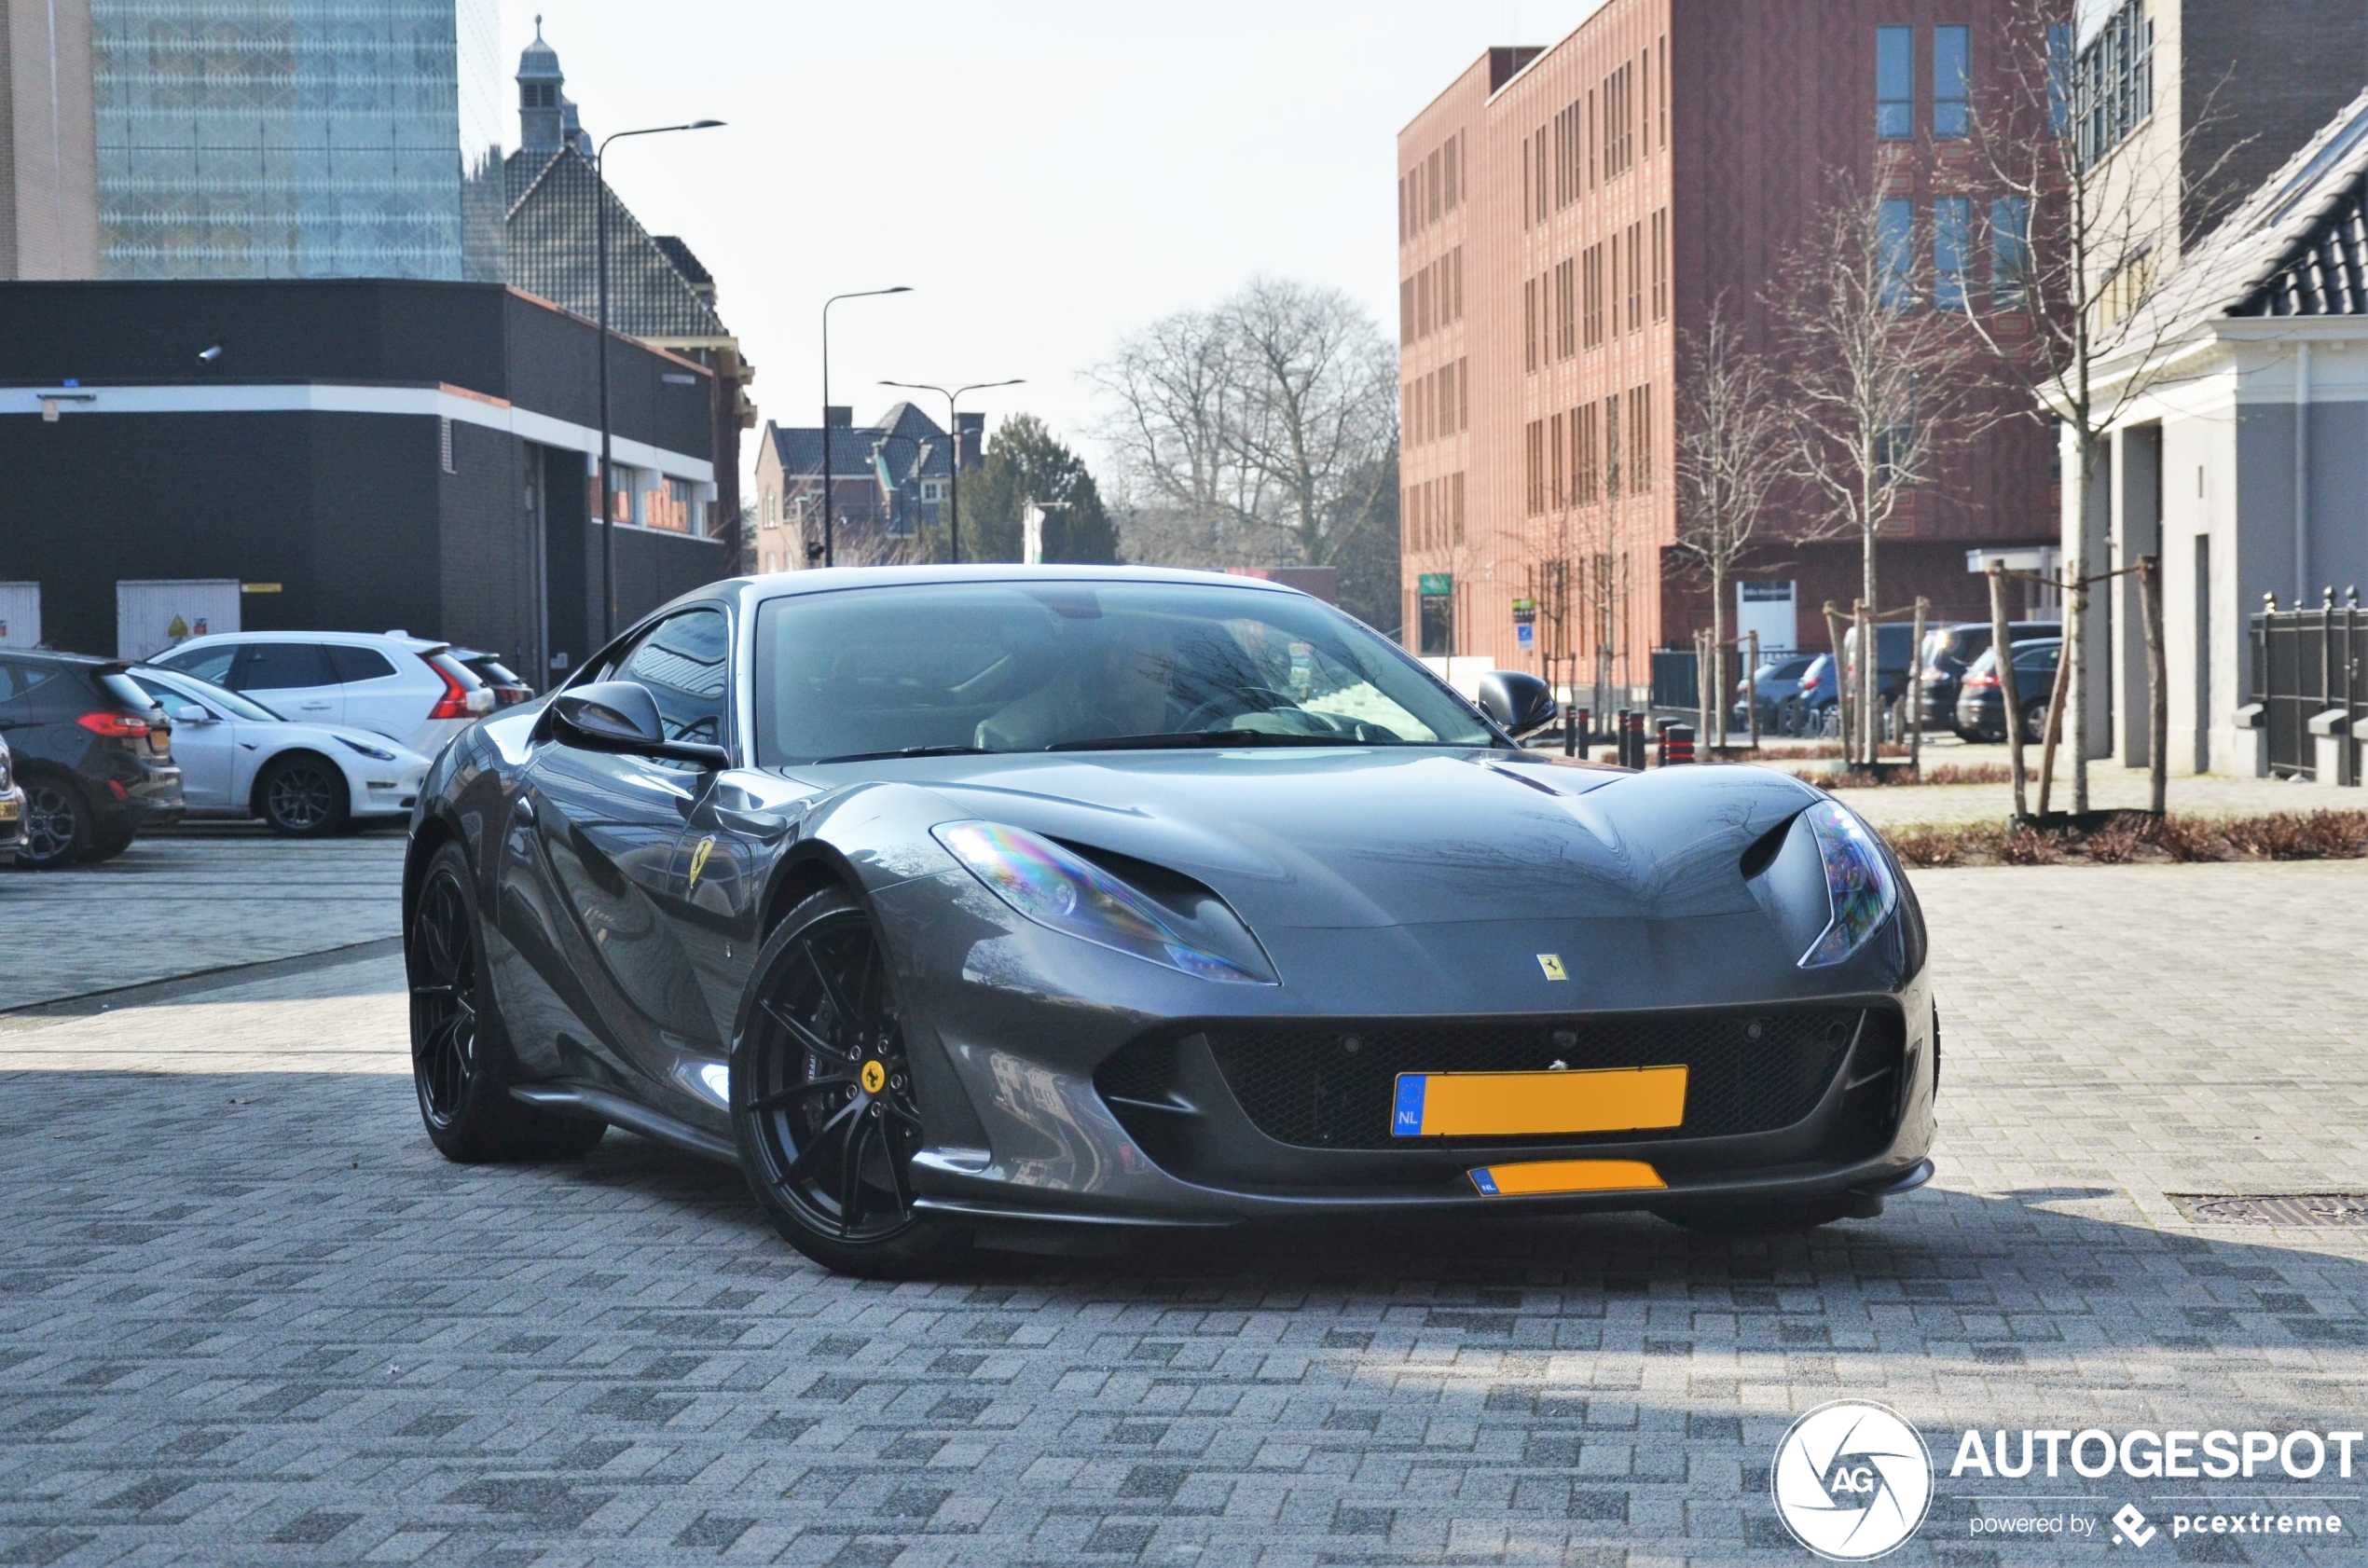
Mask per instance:
[[[670,737],[720,741],[727,654],[725,613],[691,609],[594,675],[642,682]],[[528,822],[504,841],[504,936],[604,1056],[689,1094],[682,1068],[720,1040],[682,945],[677,846],[710,775],[542,737],[521,779]]]

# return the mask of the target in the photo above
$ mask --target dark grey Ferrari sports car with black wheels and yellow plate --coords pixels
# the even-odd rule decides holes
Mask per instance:
[[[1904,874],[1759,767],[1523,751],[1248,578],[715,583],[438,758],[429,1137],[739,1165],[848,1272],[1111,1227],[1871,1217],[1932,1165]]]

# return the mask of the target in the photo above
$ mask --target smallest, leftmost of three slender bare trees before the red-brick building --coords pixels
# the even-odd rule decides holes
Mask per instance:
[[[1677,547],[1710,578],[1712,746],[1726,746],[1726,578],[1750,547],[1790,450],[1776,377],[1710,308],[1677,379]]]

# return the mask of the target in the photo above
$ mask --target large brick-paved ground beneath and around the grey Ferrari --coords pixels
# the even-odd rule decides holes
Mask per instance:
[[[0,1018],[0,1561],[1804,1563],[1767,1464],[1835,1395],[1944,1461],[1973,1424],[2368,1426],[2368,1232],[2164,1201],[2368,1189],[2368,874],[1918,888],[1942,1177],[1774,1244],[1603,1220],[855,1284],[639,1139],[438,1161],[386,959]],[[1968,1540],[2013,1485],[1939,1480],[1890,1561],[2105,1551]],[[2046,1490],[2091,1485],[2044,1506],[2155,1506]],[[2363,1485],[2273,1490],[2361,1530]]]

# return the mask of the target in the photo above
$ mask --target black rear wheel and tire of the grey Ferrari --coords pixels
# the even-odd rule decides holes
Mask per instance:
[[[483,924],[469,857],[445,843],[429,860],[403,933],[412,990],[412,1090],[429,1142],[455,1163],[552,1161],[592,1153],[606,1123],[554,1116],[509,1097],[509,1035],[481,955]]]

